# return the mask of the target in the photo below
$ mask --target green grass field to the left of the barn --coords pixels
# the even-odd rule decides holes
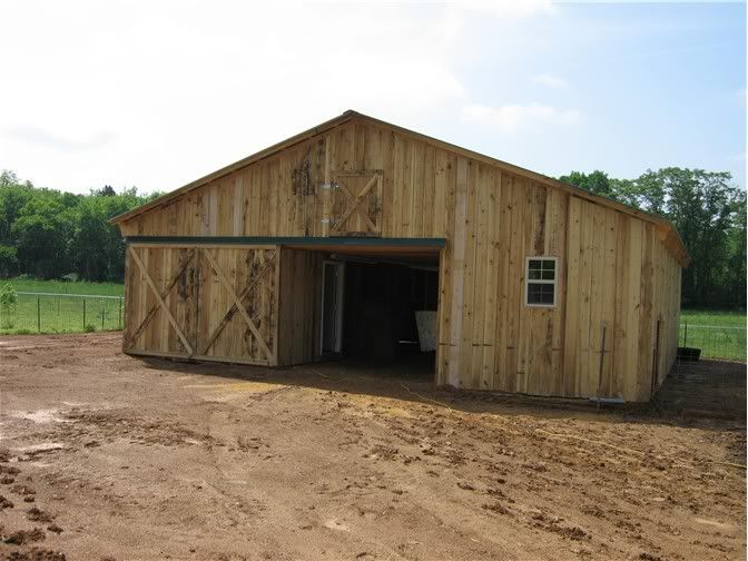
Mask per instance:
[[[19,294],[16,305],[9,309],[0,308],[0,334],[82,333],[121,328],[122,284],[29,278],[0,280],[0,285],[6,283],[11,284],[17,292],[35,294]]]

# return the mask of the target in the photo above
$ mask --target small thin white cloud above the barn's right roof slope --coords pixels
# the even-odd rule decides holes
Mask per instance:
[[[559,109],[538,104],[499,107],[471,105],[463,108],[462,118],[464,122],[493,127],[502,132],[516,132],[549,124],[573,126],[581,120],[581,114],[575,109]]]

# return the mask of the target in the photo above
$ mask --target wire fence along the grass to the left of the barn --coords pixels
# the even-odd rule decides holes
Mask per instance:
[[[122,328],[121,296],[17,294],[14,303],[0,306],[0,333],[82,333]]]

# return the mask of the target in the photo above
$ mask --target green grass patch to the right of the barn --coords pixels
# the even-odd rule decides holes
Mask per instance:
[[[701,350],[705,358],[746,361],[746,312],[683,309],[678,345]]]

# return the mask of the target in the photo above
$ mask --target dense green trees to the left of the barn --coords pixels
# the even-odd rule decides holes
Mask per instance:
[[[121,280],[125,245],[108,220],[151,198],[109,185],[90,195],[60,193],[0,173],[0,276]]]

